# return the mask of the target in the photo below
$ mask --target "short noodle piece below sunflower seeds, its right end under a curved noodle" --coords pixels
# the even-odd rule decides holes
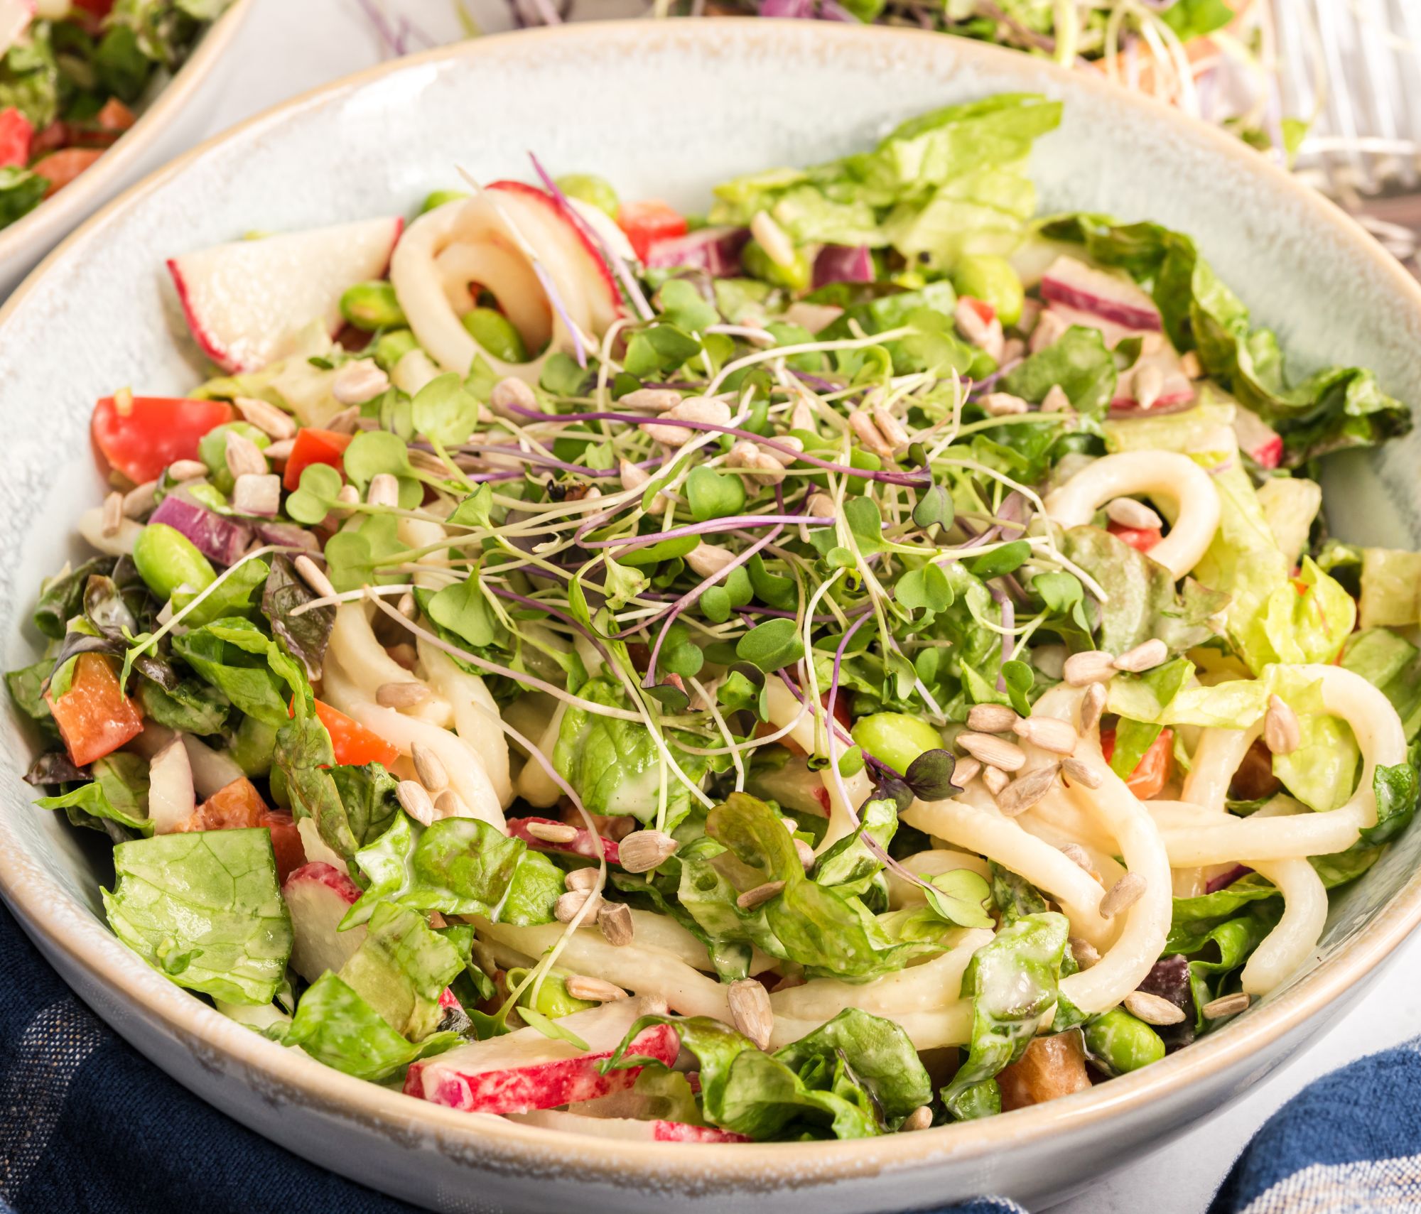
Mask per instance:
[[[915,800],[902,820],[1026,877],[1060,904],[1071,931],[1097,948],[1111,938],[1114,928],[1100,917],[1100,897],[1104,893],[1100,883],[1050,843],[1027,834],[996,806],[969,805],[965,796],[952,800]]]

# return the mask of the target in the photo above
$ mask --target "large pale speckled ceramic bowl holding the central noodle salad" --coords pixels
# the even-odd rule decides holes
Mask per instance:
[[[811,21],[597,24],[468,43],[280,107],[92,219],[0,311],[0,644],[33,660],[41,576],[97,503],[92,401],[202,378],[163,259],[252,229],[409,213],[455,165],[594,171],[625,196],[705,203],[735,173],[871,144],[908,115],[1003,90],[1066,101],[1033,176],[1047,209],[1155,219],[1277,328],[1295,370],[1373,367],[1421,402],[1421,289],[1336,209],[1242,144],[1025,55]],[[1421,543],[1421,435],[1330,469],[1334,529]],[[1421,827],[1339,898],[1316,957],[1198,1045],[1052,1105],[850,1143],[612,1143],[419,1103],[273,1045],[145,967],[109,933],[102,847],[30,807],[28,741],[0,721],[0,890],[65,979],[192,1090],[335,1171],[445,1211],[881,1211],[976,1193],[1044,1204],[1258,1082],[1351,1001],[1421,920]]]

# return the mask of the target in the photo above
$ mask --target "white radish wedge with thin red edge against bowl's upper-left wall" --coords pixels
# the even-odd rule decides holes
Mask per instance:
[[[333,337],[341,296],[378,279],[404,220],[361,219],[334,227],[234,240],[168,262],[188,328],[225,371],[257,371],[290,353],[317,320]]]

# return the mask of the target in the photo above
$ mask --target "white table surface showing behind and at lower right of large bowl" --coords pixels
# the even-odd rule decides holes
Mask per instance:
[[[371,3],[408,17],[431,43],[460,36],[458,0]],[[641,7],[638,0],[577,0],[574,14],[624,16]],[[512,26],[502,0],[465,0],[465,9],[487,33]],[[421,45],[412,36],[409,48]],[[236,53],[250,65],[234,74],[209,134],[388,54],[360,0],[256,0]],[[1199,1214],[1248,1137],[1289,1096],[1353,1058],[1421,1032],[1421,982],[1411,977],[1421,967],[1421,935],[1403,954],[1366,1001],[1302,1058],[1164,1150],[1057,1205],[1056,1214]]]

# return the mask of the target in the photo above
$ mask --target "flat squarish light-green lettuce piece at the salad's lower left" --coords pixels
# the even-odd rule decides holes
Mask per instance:
[[[286,979],[291,921],[271,832],[199,830],[114,849],[102,890],[114,934],[179,987],[229,1004],[270,1004]]]

